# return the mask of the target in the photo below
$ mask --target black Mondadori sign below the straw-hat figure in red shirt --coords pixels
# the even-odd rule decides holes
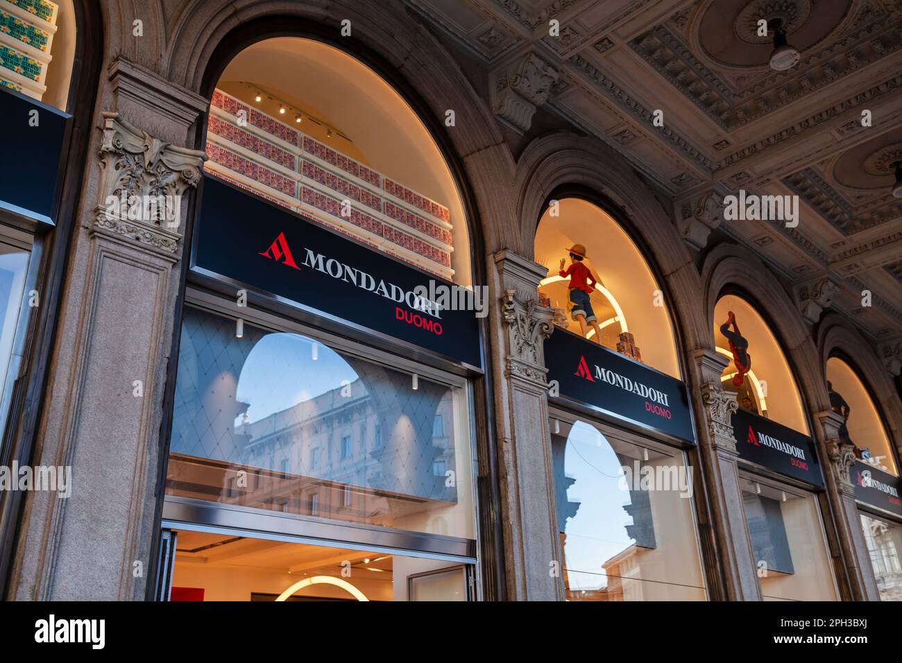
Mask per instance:
[[[695,443],[683,382],[561,329],[545,342],[545,365],[562,396]]]

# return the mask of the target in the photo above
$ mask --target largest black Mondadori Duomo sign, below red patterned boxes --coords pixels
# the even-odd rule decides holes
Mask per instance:
[[[474,310],[441,308],[420,295],[442,287],[457,292],[453,283],[209,175],[200,205],[194,272],[482,367]]]

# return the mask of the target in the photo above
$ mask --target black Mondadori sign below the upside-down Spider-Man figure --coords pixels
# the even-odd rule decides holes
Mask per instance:
[[[824,485],[811,437],[742,409],[733,413],[732,424],[741,458],[779,474]]]

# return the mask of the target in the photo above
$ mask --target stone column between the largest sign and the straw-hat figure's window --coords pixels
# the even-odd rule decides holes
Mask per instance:
[[[501,293],[495,403],[508,599],[564,598],[543,342],[553,325],[536,288],[544,267],[504,250],[493,256]],[[557,573],[554,571],[557,570]]]

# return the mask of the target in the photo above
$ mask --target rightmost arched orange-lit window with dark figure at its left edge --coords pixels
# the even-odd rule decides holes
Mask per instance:
[[[832,356],[827,359],[827,389],[830,406],[843,415],[847,440],[855,455],[869,465],[898,476],[896,458],[874,401],[849,364]]]

